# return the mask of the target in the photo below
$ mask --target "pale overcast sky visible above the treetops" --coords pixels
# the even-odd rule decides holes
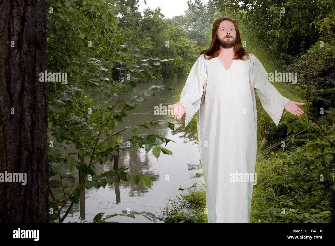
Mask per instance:
[[[164,18],[172,18],[175,15],[184,14],[185,10],[188,9],[188,0],[147,0],[147,5],[142,0],[139,0],[139,11],[143,13],[143,10],[150,7],[155,9],[158,6],[161,7],[161,12],[165,15]],[[192,0],[194,2],[194,0]],[[208,0],[202,0],[203,3],[207,3]],[[142,14],[143,16],[143,14]]]

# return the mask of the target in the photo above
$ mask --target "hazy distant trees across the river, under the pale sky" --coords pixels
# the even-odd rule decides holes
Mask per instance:
[[[148,71],[153,79],[177,78],[189,73],[200,51],[197,41],[190,39],[181,26],[183,22],[164,18],[159,7],[144,9],[142,17],[138,1],[117,3],[120,4],[118,26],[124,30],[125,43],[136,46],[143,58],[157,56],[180,61],[178,64],[162,64],[160,68]]]

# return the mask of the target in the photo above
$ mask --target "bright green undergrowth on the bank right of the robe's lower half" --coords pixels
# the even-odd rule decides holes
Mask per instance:
[[[257,157],[251,222],[330,222],[335,126],[322,127],[327,134],[304,146]]]

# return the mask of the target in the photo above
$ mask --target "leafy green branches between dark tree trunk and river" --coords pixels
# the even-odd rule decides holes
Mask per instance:
[[[172,152],[160,146],[171,140],[154,134],[136,135],[138,127],[160,127],[174,130],[174,124],[163,120],[134,122],[117,131],[115,126],[123,124],[123,118],[133,110],[136,102],[144,101],[146,96],[155,96],[154,91],[172,90],[169,85],[151,86],[142,94],[135,95],[134,88],[139,80],[150,78],[150,71],[160,64],[172,64],[174,59],[152,57],[137,63],[138,49],[123,44],[123,31],[117,27],[115,12],[118,9],[103,0],[49,2],[48,20],[48,64],[49,72],[66,72],[68,81],[48,81],[49,134],[56,142],[50,141],[49,190],[51,220],[63,222],[74,203],[79,202],[80,190],[92,187],[105,187],[107,183],[130,181],[138,184],[141,180],[151,188],[154,178],[140,173],[128,173],[123,165],[102,174],[95,173],[95,165],[113,161],[120,150],[138,146],[146,153],[152,149],[158,158],[160,152]],[[98,58],[98,59],[97,59]],[[112,80],[115,63],[120,64],[121,80]],[[85,90],[95,91],[86,96]],[[122,93],[132,95],[129,100],[120,100]],[[122,132],[134,133],[130,139],[122,140]],[[106,136],[103,140],[102,136]],[[161,141],[161,143],[158,142]],[[48,138],[49,141],[49,138]],[[78,151],[64,154],[60,149],[68,149],[73,143]],[[77,157],[78,156],[78,157]],[[81,157],[89,156],[89,163]],[[73,170],[83,173],[80,184],[75,182]],[[61,214],[62,209],[66,211]],[[56,211],[53,211],[55,209]],[[134,214],[148,219],[154,215],[148,212],[123,212],[124,216],[134,218]],[[98,214],[93,222],[104,222],[115,215],[102,218]]]

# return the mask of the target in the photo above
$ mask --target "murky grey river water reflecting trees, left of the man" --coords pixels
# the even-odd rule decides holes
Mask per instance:
[[[122,130],[126,126],[133,126],[144,121],[153,121],[158,119],[169,120],[174,122],[175,131],[170,128],[161,129],[159,126],[155,128],[145,129],[138,127],[136,135],[140,134],[157,134],[168,139],[175,141],[169,142],[165,148],[171,150],[173,155],[164,155],[160,153],[159,158],[155,158],[152,154],[152,149],[145,154],[144,149],[133,147],[126,151],[120,151],[119,168],[121,166],[129,167],[127,172],[138,172],[146,176],[154,177],[151,188],[148,188],[140,181],[137,185],[131,179],[130,181],[120,180],[120,183],[107,184],[105,188],[99,189],[91,188],[85,190],[84,203],[80,211],[79,204],[74,204],[70,213],[67,215],[63,223],[84,221],[92,222],[93,218],[98,213],[105,213],[111,215],[115,213],[122,213],[123,210],[130,211],[147,211],[155,214],[156,216],[163,217],[161,211],[164,209],[168,199],[175,199],[176,195],[180,195],[181,188],[188,188],[194,183],[201,185],[203,181],[202,167],[200,163],[200,153],[197,142],[196,134],[190,133],[190,128],[186,127],[184,131],[181,130],[181,125],[178,124],[179,120],[175,120],[171,115],[154,115],[154,106],[161,103],[162,106],[177,103],[180,99],[180,93],[185,85],[184,79],[164,79],[157,81],[149,81],[146,83],[138,84],[136,94],[143,93],[151,85],[170,85],[174,91],[158,92],[155,91],[155,97],[145,97],[146,101],[136,102],[137,107],[134,110],[127,111],[130,113],[126,118],[123,118],[123,124],[118,122],[117,130]],[[91,94],[90,91],[87,91]],[[130,95],[124,95],[121,99],[128,99]],[[131,138],[133,133],[124,131],[121,142]],[[49,136],[50,140],[54,138]],[[102,136],[104,139],[105,136]],[[160,141],[160,140],[158,140]],[[156,143],[157,142],[156,140]],[[160,144],[164,147],[165,143]],[[73,145],[72,148],[66,150],[61,149],[64,153],[76,152]],[[89,163],[89,157],[84,158],[85,163]],[[113,163],[106,162],[103,165],[95,164],[95,173],[106,172],[113,169]],[[78,182],[78,169],[74,169],[71,174]],[[166,175],[169,175],[169,181],[165,180]],[[56,178],[57,176],[53,177]],[[77,185],[77,183],[76,183]],[[198,186],[199,187],[199,186]],[[185,191],[184,191],[185,193]],[[51,197],[50,197],[51,199]],[[83,199],[82,199],[83,200]],[[85,205],[85,206],[83,206]],[[66,208],[62,209],[61,216],[64,215]],[[140,215],[135,215],[136,219],[116,216],[108,221],[120,223],[153,223],[150,220]],[[159,223],[159,221],[157,221]]]

